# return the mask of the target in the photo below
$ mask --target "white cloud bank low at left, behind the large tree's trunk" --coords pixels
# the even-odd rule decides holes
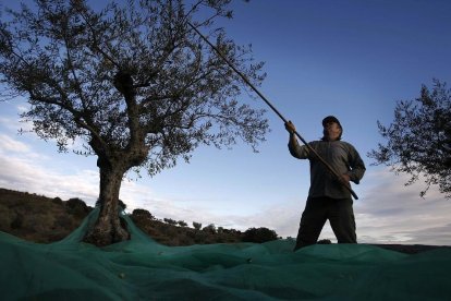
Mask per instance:
[[[0,139],[0,186],[63,200],[80,197],[94,206],[99,194],[97,170],[77,169],[76,162],[69,157],[58,161],[54,157],[38,154],[32,145],[3,133]],[[149,206],[156,207],[159,214],[184,212],[170,201],[154,200],[153,195],[151,189],[144,184],[129,180],[122,183],[120,197],[131,209]]]

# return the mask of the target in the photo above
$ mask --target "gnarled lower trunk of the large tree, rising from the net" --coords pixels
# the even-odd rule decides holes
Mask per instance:
[[[110,164],[101,164],[100,159],[97,165],[100,168],[100,214],[83,241],[105,246],[130,239],[130,233],[121,226],[119,217],[119,191],[125,171],[121,168],[111,168]]]

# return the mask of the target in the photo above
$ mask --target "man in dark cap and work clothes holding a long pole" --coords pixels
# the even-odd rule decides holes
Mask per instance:
[[[294,124],[289,121],[285,129],[290,133],[289,149],[293,157],[310,161],[310,189],[302,214],[294,251],[317,242],[329,219],[339,243],[356,243],[354,210],[351,192],[343,185],[350,181],[358,184],[365,173],[365,164],[351,144],[341,141],[343,129],[340,121],[328,116],[322,120],[324,136],[308,145],[327,161],[342,179],[330,172],[316,155],[297,143]]]

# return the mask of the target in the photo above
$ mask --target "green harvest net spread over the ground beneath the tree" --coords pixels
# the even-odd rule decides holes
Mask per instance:
[[[414,255],[361,244],[293,241],[158,244],[127,216],[132,239],[80,242],[94,210],[62,241],[0,232],[1,300],[449,300],[451,251]]]

